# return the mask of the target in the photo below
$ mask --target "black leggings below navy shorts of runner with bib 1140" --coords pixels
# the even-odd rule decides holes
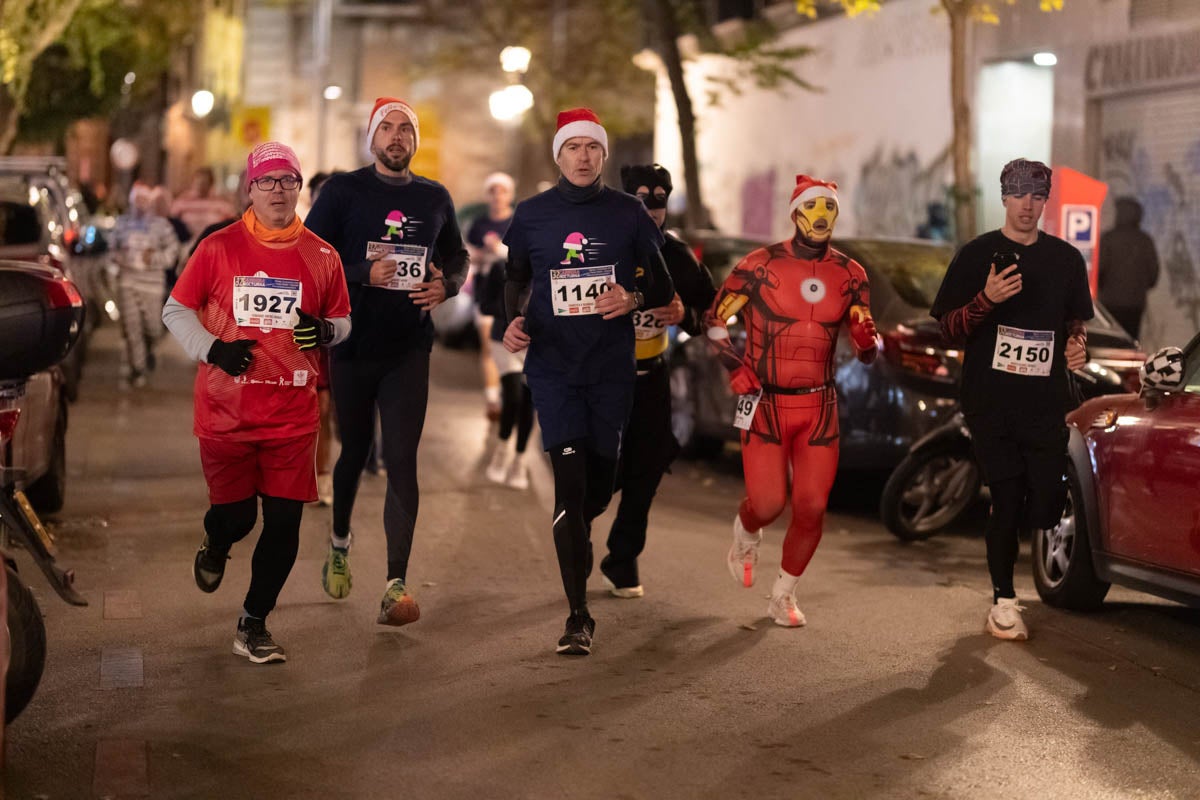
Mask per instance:
[[[592,521],[612,499],[617,462],[588,450],[583,439],[550,451],[554,470],[554,551],[571,612],[588,609],[592,575]]]

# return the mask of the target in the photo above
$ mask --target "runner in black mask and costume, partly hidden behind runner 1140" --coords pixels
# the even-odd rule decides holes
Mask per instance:
[[[671,194],[671,173],[659,164],[626,164],[620,182],[628,194],[646,205],[650,218],[662,230]],[[646,547],[650,504],[664,473],[679,455],[679,443],[671,432],[671,385],[665,353],[667,327],[678,325],[691,336],[703,332],[704,312],[716,296],[713,276],[696,260],[683,240],[662,230],[662,260],[674,283],[676,295],[662,308],[634,312],[637,339],[637,381],[634,411],[629,417],[617,488],[620,505],[608,531],[608,555],[600,561],[608,590],[617,597],[644,594],[637,573],[637,557]]]

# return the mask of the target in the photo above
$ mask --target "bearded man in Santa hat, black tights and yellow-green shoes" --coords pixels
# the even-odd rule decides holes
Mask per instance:
[[[430,312],[457,294],[467,251],[449,192],[409,169],[420,144],[412,107],[377,100],[367,144],[374,163],[331,176],[305,221],[341,254],[354,309],[350,338],[331,359],[342,452],[334,467],[334,524],[322,585],[335,599],[350,593],[350,515],[378,404],[388,465],[388,587],[378,621],[406,625],[420,616],[406,579],[419,500],[416,447],[428,401]]]

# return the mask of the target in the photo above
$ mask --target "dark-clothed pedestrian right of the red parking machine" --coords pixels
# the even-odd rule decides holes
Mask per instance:
[[[1141,203],[1118,197],[1116,206],[1116,224],[1100,235],[1099,297],[1121,327],[1138,338],[1146,293],[1158,283],[1158,251],[1141,229]]]

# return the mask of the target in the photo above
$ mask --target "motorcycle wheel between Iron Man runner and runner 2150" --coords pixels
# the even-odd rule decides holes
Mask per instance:
[[[908,453],[892,471],[880,516],[906,542],[929,539],[962,518],[979,497],[980,480],[968,443],[930,445]]]

